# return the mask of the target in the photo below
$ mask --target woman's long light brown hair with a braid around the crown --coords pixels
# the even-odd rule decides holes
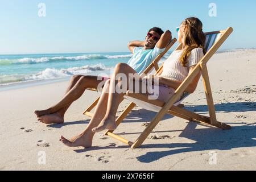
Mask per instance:
[[[180,56],[180,61],[183,64],[183,67],[187,67],[187,59],[191,55],[191,51],[193,49],[202,48],[204,53],[206,53],[204,48],[205,34],[203,32],[203,23],[198,18],[187,18],[181,23],[181,25],[184,25],[187,28],[184,32],[183,42],[185,49]]]

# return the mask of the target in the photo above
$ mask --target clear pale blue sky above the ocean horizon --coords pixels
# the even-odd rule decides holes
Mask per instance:
[[[38,4],[46,4],[46,17]],[[209,3],[217,17],[210,17]],[[197,16],[204,31],[232,26],[222,49],[256,47],[255,0],[0,0],[0,54],[127,52],[154,26],[171,30]]]

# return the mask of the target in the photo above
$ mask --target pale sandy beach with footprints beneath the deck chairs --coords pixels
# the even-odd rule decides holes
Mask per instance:
[[[208,63],[217,120],[232,130],[166,115],[138,149],[99,133],[93,147],[68,148],[60,136],[80,134],[90,121],[83,111],[98,97],[86,91],[68,110],[65,123],[43,125],[34,110],[63,96],[67,81],[0,92],[0,170],[256,170],[256,49],[217,53]],[[119,113],[129,101],[119,107]],[[185,109],[208,115],[203,82]],[[135,107],[115,131],[137,139],[155,113]],[[40,151],[46,164],[39,164]],[[216,157],[211,163],[212,156]]]

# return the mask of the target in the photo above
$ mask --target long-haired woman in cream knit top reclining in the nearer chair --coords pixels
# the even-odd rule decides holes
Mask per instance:
[[[192,72],[196,64],[199,63],[204,56],[205,49],[205,35],[203,32],[203,24],[198,18],[187,18],[177,28],[178,41],[183,43],[183,48],[179,51],[174,51],[170,57],[165,61],[163,71],[158,74],[159,80],[159,98],[161,101],[168,101],[174,96],[175,90],[179,88],[180,84]],[[102,130],[115,130],[115,115],[118,106],[124,96],[123,93],[116,93],[121,80],[115,80],[119,73],[129,74],[136,72],[133,68],[126,64],[118,64],[115,67],[112,79],[106,82],[100,101],[98,102],[94,116],[89,125],[82,132],[82,134],[68,140],[61,136],[60,141],[69,147],[91,147],[92,140],[95,133]],[[191,85],[185,92],[193,93],[197,87],[197,83],[201,74],[197,75],[192,81]],[[127,79],[128,80],[128,79]],[[127,82],[127,85],[129,82]],[[140,83],[142,88],[142,82]]]

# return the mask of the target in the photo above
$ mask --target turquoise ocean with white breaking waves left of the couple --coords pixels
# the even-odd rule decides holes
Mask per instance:
[[[129,52],[0,55],[0,86],[72,75],[109,75],[117,63],[127,63],[132,56]]]

